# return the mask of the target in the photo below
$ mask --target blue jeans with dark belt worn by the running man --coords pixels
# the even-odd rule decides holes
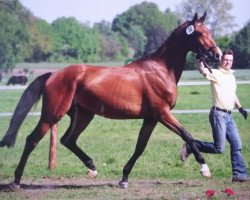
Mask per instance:
[[[233,178],[247,177],[247,169],[241,154],[242,143],[231,114],[211,109],[209,121],[213,131],[214,143],[195,140],[199,151],[221,154],[225,150],[226,139],[231,148]]]

